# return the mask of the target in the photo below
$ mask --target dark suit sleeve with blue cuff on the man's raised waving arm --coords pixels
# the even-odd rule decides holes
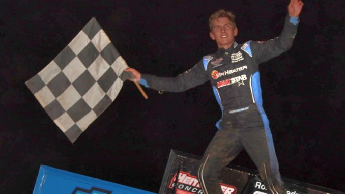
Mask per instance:
[[[255,61],[263,63],[289,50],[293,45],[298,23],[298,17],[286,16],[284,28],[278,37],[265,42],[250,41],[249,44]]]

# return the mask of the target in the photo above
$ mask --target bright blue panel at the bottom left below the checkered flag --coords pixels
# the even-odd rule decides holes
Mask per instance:
[[[33,194],[154,194],[41,165]]]

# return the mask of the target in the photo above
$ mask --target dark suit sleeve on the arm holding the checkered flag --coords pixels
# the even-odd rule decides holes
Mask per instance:
[[[182,92],[205,83],[208,80],[203,62],[200,61],[192,69],[176,77],[158,77],[141,74],[139,83],[147,88],[167,92]]]

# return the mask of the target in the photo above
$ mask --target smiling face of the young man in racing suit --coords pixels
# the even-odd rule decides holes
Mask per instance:
[[[215,40],[219,48],[229,48],[235,41],[237,36],[237,27],[227,17],[220,17],[212,21],[212,32],[210,37]]]

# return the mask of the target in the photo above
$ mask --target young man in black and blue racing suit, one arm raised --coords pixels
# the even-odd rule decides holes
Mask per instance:
[[[258,64],[288,50],[294,41],[303,2],[291,0],[281,35],[265,42],[238,44],[238,29],[231,12],[219,10],[209,19],[210,37],[218,51],[203,57],[177,77],[156,77],[131,72],[140,84],[169,92],[181,92],[210,81],[222,110],[219,130],[206,149],[198,171],[205,194],[222,194],[218,176],[244,148],[256,164],[268,193],[285,193],[274,151],[269,121],[262,106]]]

